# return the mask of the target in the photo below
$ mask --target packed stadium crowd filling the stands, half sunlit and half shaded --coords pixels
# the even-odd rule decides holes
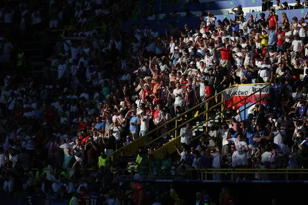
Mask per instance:
[[[106,15],[112,9],[119,11],[105,11],[115,4],[112,1],[51,0],[44,8],[35,8],[35,1],[17,2],[8,1],[1,9],[4,28],[16,28],[19,19],[18,30],[25,35],[31,28],[40,31],[46,26],[70,25],[72,32],[68,37],[59,35],[52,44],[45,81],[24,77],[21,65],[27,65],[19,55],[17,66],[4,77],[0,96],[2,197],[39,194],[83,204],[93,195],[106,204],[118,204],[121,175],[204,179],[202,169],[211,168],[308,168],[307,15],[300,19],[285,13],[277,16],[277,1],[278,7],[270,9],[268,16],[260,13],[259,20],[249,15],[246,20],[239,16],[216,21],[208,11],[200,16],[200,27],[168,25],[164,35],[140,25],[100,33],[93,26],[82,31],[81,23],[92,11]],[[240,5],[232,11],[244,14]],[[10,54],[18,50],[15,39],[2,36],[2,61],[14,59]],[[136,170],[130,173],[125,170],[124,152],[114,161],[108,157],[229,86],[251,83],[272,86],[267,103],[251,107],[247,119],[235,111],[232,119],[212,125],[198,144],[190,143],[194,136],[187,123],[180,131],[181,146],[171,151],[176,155],[166,152],[158,159],[152,153],[157,147],[140,147]],[[218,98],[210,101],[215,103]],[[191,117],[188,112],[177,121],[184,123]],[[146,141],[170,127],[146,136]],[[110,170],[112,164],[116,174]],[[52,170],[48,179],[43,169]],[[74,169],[72,175],[69,169]],[[228,174],[209,173],[214,180],[230,179]],[[262,180],[283,177],[261,175]],[[259,176],[237,175],[237,180],[248,178]],[[145,204],[149,191],[139,183],[130,183],[130,187],[136,204]],[[231,204],[226,190],[221,204]],[[170,196],[181,203],[173,188]]]

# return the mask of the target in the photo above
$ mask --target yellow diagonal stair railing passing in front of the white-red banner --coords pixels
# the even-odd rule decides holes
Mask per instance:
[[[247,84],[245,84],[245,85],[247,86]],[[245,86],[245,85],[243,85],[243,86]],[[257,84],[255,84],[255,85],[257,85]],[[211,108],[206,108],[206,110],[205,110],[204,112],[200,113],[199,115],[195,116],[195,117],[192,118],[192,119],[187,120],[186,122],[184,122],[184,123],[183,123],[182,125],[180,125],[179,127],[185,125],[187,122],[189,122],[189,121],[191,121],[191,120],[193,120],[193,119],[195,119],[195,118],[201,116],[202,114],[206,113],[206,120],[203,121],[203,122],[201,122],[201,124],[199,124],[199,125],[197,125],[197,126],[195,126],[194,128],[191,129],[191,130],[195,130],[195,129],[197,129],[197,128],[203,126],[203,124],[207,124],[209,119],[211,119],[211,118],[214,118],[214,119],[215,119],[216,116],[219,116],[219,115],[223,114],[223,113],[224,113],[225,111],[227,111],[227,110],[233,109],[234,106],[236,106],[237,104],[241,103],[242,101],[245,102],[245,105],[244,105],[244,109],[243,109],[243,110],[240,110],[240,112],[245,111],[247,108],[249,108],[249,107],[251,107],[251,106],[254,106],[254,105],[257,104],[257,103],[260,103],[262,100],[264,100],[265,98],[267,98],[267,96],[261,98],[261,95],[260,95],[260,98],[259,98],[255,103],[253,103],[253,104],[249,105],[248,107],[246,107],[246,100],[247,100],[249,97],[255,95],[255,94],[258,93],[258,92],[261,92],[261,90],[267,88],[268,86],[271,86],[271,84],[269,84],[269,83],[266,83],[266,84],[258,84],[258,85],[265,85],[265,86],[262,87],[262,88],[260,88],[260,89],[257,90],[256,92],[254,92],[254,93],[252,93],[252,94],[246,96],[245,98],[239,100],[236,104],[234,104],[234,105],[232,105],[232,106],[230,106],[230,107],[228,107],[228,108],[222,109],[221,112],[219,112],[218,114],[216,113],[214,116],[211,116],[211,117],[208,118],[207,113],[208,113],[209,110],[214,109],[214,108],[216,108],[216,107],[219,106],[219,105],[223,105],[223,99],[222,99],[222,101],[221,101],[220,103],[214,105],[214,106],[211,107]],[[223,91],[222,91],[222,92],[223,92]],[[219,94],[220,94],[220,93],[219,93]],[[219,94],[217,94],[217,95],[219,95]],[[207,105],[207,104],[206,104],[206,105]],[[177,127],[177,126],[176,126],[176,127]],[[175,129],[177,129],[177,128],[175,128]],[[173,131],[173,130],[175,130],[175,129],[172,129],[172,130],[170,130],[170,131]],[[206,129],[207,129],[207,125],[206,125]],[[169,132],[170,132],[170,131],[169,131]],[[168,132],[167,132],[167,133],[168,133]],[[166,133],[166,134],[167,134],[167,133]],[[155,139],[155,140],[149,142],[146,146],[149,146],[149,145],[153,144],[153,142],[155,142],[155,141],[161,139],[161,138],[162,138],[163,136],[165,136],[166,134],[164,134],[164,135],[158,137],[157,139]],[[203,133],[202,133],[201,135],[198,135],[198,136],[192,138],[190,141],[193,141],[193,140],[199,138],[199,137],[202,136],[202,135],[203,135]],[[160,147],[159,149],[155,150],[155,151],[153,152],[153,154],[154,154],[155,157],[157,157],[157,158],[163,158],[163,153],[164,153],[164,152],[170,152],[170,153],[175,152],[175,146],[178,145],[178,144],[180,144],[180,141],[181,141],[181,137],[180,137],[180,136],[176,136],[175,139],[173,139],[173,140],[171,140],[171,141],[168,141],[165,145],[163,145],[163,146]]]

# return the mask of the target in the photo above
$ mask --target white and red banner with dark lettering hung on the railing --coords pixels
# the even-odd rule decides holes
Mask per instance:
[[[261,93],[256,92],[259,91],[260,89]],[[261,104],[265,104],[267,101],[268,94],[269,94],[269,86],[267,85],[239,85],[233,88],[228,88],[223,91],[224,108],[226,109],[229,107],[235,107],[237,109],[245,105],[245,103],[246,104],[256,103],[257,101],[259,101],[264,97],[265,98],[261,100]],[[241,101],[247,96],[249,97],[246,100]],[[238,103],[239,101],[241,102]]]

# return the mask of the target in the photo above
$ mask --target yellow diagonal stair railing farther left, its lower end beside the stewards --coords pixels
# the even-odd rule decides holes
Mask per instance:
[[[254,84],[254,85],[267,85],[267,84]],[[236,86],[238,86],[238,85],[233,85],[233,86],[230,86],[229,88],[233,88],[233,87],[236,87]],[[210,98],[208,98],[207,100],[203,101],[202,103],[200,103],[199,105],[195,106],[194,108],[191,108],[190,110],[188,110],[188,111],[182,113],[181,115],[179,115],[179,116],[177,116],[177,117],[171,119],[170,121],[167,121],[165,124],[163,124],[163,125],[157,127],[156,129],[151,130],[150,132],[148,132],[147,134],[143,135],[142,137],[140,137],[140,138],[134,140],[134,141],[131,142],[129,145],[126,145],[126,146],[120,148],[119,150],[117,150],[117,151],[111,153],[111,154],[109,155],[109,157],[111,157],[111,158],[117,157],[122,151],[125,151],[125,155],[126,155],[126,156],[129,156],[129,155],[131,155],[131,154],[137,152],[137,150],[139,149],[140,146],[148,145],[148,143],[146,143],[146,141],[145,141],[145,140],[146,140],[146,137],[145,137],[145,136],[148,136],[148,135],[150,135],[150,134],[152,134],[152,133],[155,133],[155,132],[158,131],[159,129],[164,128],[166,125],[172,123],[173,121],[175,121],[176,119],[178,119],[178,118],[180,118],[180,117],[182,117],[182,116],[185,116],[187,113],[189,113],[189,112],[191,112],[191,111],[194,111],[196,108],[199,108],[200,106],[204,105],[205,103],[206,103],[206,105],[207,105],[207,103],[208,103],[210,100],[213,100],[213,99],[215,99],[216,97],[221,96],[221,100],[222,100],[222,101],[221,101],[221,103],[218,103],[215,107],[221,105],[221,110],[223,110],[223,103],[222,103],[222,102],[223,102],[223,95],[222,95],[222,94],[223,94],[223,91],[220,92],[220,93],[218,93],[218,94],[216,94],[216,95],[214,95],[214,96],[212,96],[212,97],[210,97]],[[207,109],[207,110],[210,110],[210,109]],[[208,117],[207,112],[203,112],[203,113],[201,113],[201,114],[204,114],[204,113],[206,114],[206,117]],[[201,116],[201,114],[198,114],[196,117]],[[195,119],[196,117],[190,119],[189,121]],[[206,123],[207,123],[207,122],[206,122]],[[177,126],[177,121],[176,121],[176,128],[178,128],[178,126]],[[176,129],[172,129],[171,131],[168,131],[168,132],[165,133],[163,136],[165,136],[166,134],[168,134],[168,133],[170,133],[170,132],[172,132],[172,131],[174,131],[174,130],[176,130]],[[176,136],[177,136],[177,134],[176,134]],[[162,137],[162,136],[160,136],[159,138],[157,138],[157,139],[155,139],[155,140],[158,140],[158,139],[160,139],[161,137]],[[153,142],[153,141],[152,141],[152,142]]]

